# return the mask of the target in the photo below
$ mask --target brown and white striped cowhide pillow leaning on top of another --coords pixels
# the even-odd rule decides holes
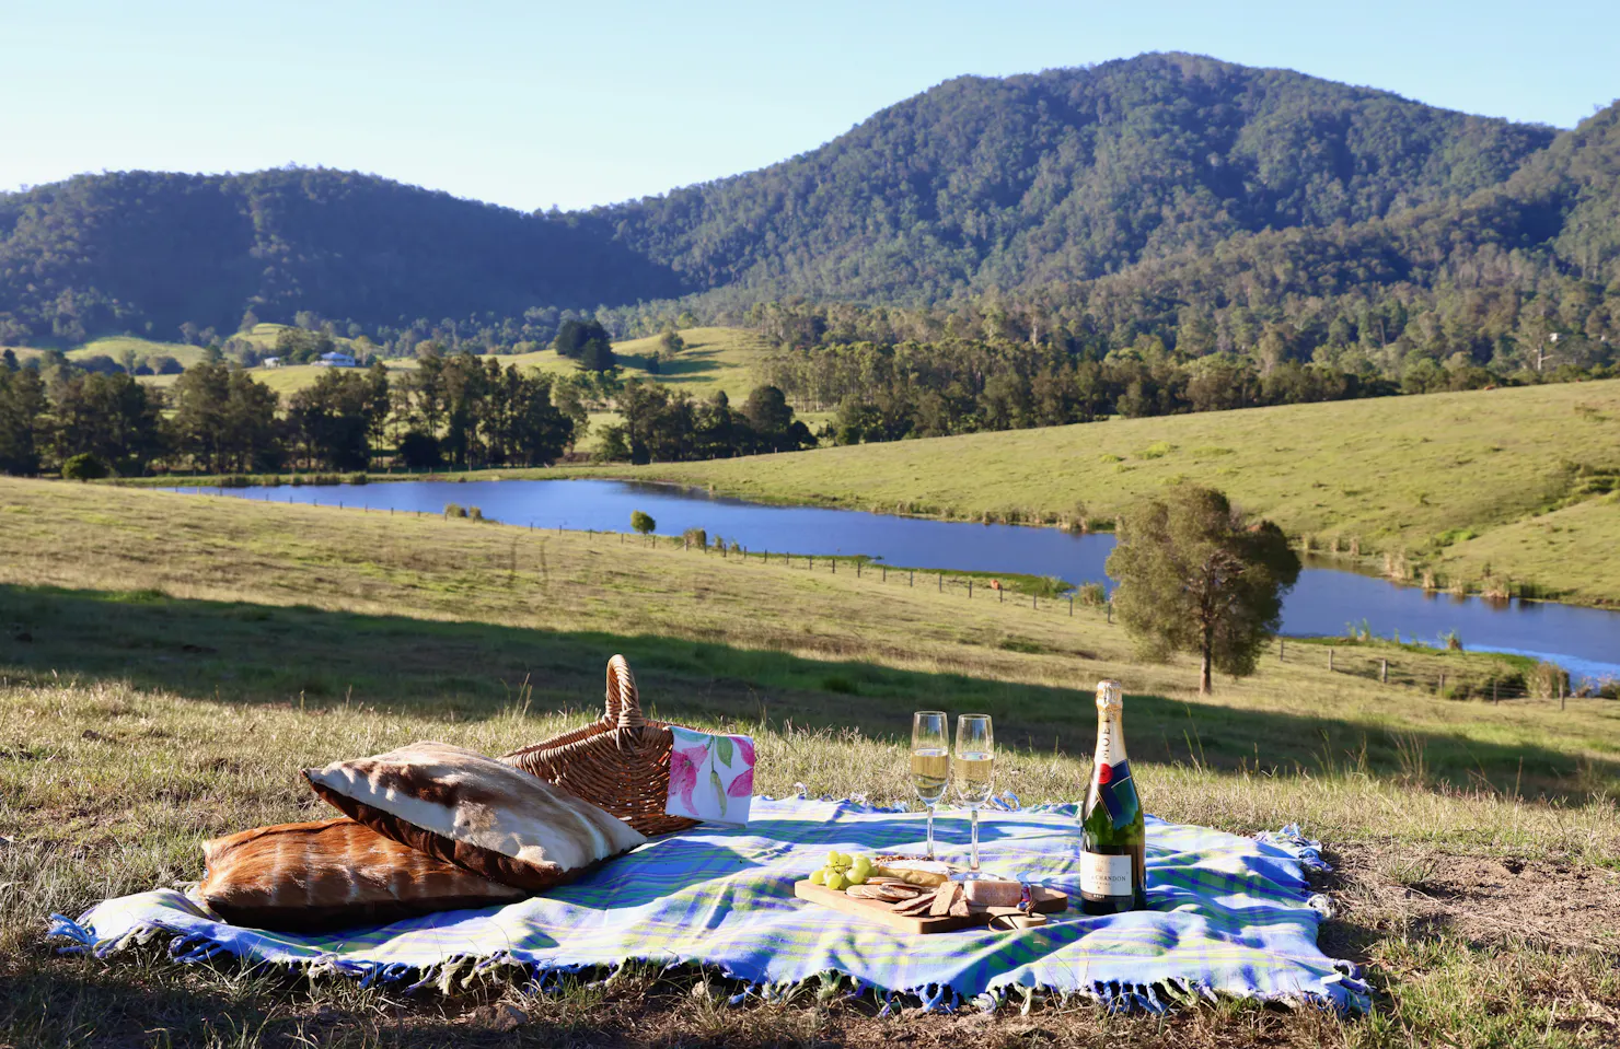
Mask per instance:
[[[539,892],[645,842],[561,787],[449,743],[305,769],[316,793],[377,834]]]

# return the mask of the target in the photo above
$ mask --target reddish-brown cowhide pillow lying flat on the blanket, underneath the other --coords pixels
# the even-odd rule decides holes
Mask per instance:
[[[202,843],[194,894],[232,924],[316,932],[528,894],[434,860],[353,819],[258,827]]]

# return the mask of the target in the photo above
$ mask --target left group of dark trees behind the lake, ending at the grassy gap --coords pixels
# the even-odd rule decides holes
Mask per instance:
[[[585,421],[552,390],[551,376],[467,353],[429,351],[400,372],[334,367],[285,401],[224,361],[193,364],[167,392],[126,372],[5,363],[0,471],[55,473],[76,458],[91,476],[366,469],[377,457],[416,469],[546,466]]]

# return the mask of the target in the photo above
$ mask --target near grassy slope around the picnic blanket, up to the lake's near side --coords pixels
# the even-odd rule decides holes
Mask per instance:
[[[1163,1044],[1166,1028],[1210,1047],[1477,1044],[1481,1031],[1537,1044],[1568,1021],[1568,1044],[1596,1046],[1620,1031],[1612,703],[1442,701],[1298,659],[1265,659],[1199,701],[1187,660],[1137,664],[1097,615],[433,516],[0,479],[0,725],[16,727],[0,738],[0,1043],[162,1026],[175,1044],[222,1031],[254,1031],[232,1044],[473,1044],[471,1009],[504,999],[530,1025],[523,1044],[800,1044],[815,1031],[988,1047],[1019,1025],[1058,1044]],[[906,790],[910,711],[940,696],[996,717],[1000,788],[1072,800],[1085,685],[1119,677],[1153,813],[1241,834],[1298,821],[1324,840],[1340,869],[1317,879],[1338,907],[1324,945],[1366,966],[1379,1012],[1051,1004],[966,1028],[813,996],[703,1012],[695,973],[632,968],[556,996],[515,996],[491,975],[410,999],[382,981],[40,942],[45,913],[196,877],[206,837],[314,818],[298,767],[416,738],[504,751],[582,724],[611,652],[630,657],[659,716],[753,733],[758,790],[802,782],[878,803]],[[1390,654],[1453,672],[1495,660]],[[1571,996],[1586,1013],[1571,1017]]]

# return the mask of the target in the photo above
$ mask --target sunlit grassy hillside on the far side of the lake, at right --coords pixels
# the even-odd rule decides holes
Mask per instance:
[[[619,473],[619,471],[616,471]],[[624,471],[766,502],[969,520],[1111,518],[1176,479],[1315,549],[1620,601],[1620,380],[821,448]],[[1609,494],[1605,494],[1609,492]],[[1398,568],[1398,567],[1396,567]]]

